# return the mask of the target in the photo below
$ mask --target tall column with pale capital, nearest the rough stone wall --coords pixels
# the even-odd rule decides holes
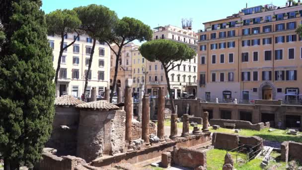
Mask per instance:
[[[125,130],[125,141],[130,143],[131,142],[131,127],[132,127],[132,79],[126,80],[126,87],[125,87],[125,112],[126,112],[126,130]]]

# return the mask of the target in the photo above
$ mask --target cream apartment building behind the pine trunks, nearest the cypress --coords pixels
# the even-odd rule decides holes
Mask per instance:
[[[64,46],[70,44],[75,38],[76,34],[67,34]],[[57,69],[61,37],[48,36],[48,39],[53,49],[54,69]],[[57,97],[65,94],[80,97],[84,93],[85,76],[88,71],[92,42],[93,40],[87,35],[80,35],[75,43],[63,52],[58,85],[56,86]],[[103,95],[105,88],[109,86],[109,56],[109,47],[103,42],[96,42],[88,86],[85,92],[88,97],[92,87],[97,88],[99,95]]]

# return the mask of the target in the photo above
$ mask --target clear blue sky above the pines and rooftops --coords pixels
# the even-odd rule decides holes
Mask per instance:
[[[181,18],[193,19],[193,30],[204,29],[203,22],[224,18],[244,8],[272,3],[285,5],[286,0],[42,0],[42,9],[72,9],[95,3],[114,10],[120,18],[135,17],[154,28],[158,25],[181,26]]]

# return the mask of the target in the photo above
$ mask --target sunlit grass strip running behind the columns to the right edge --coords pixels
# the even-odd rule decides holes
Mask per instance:
[[[171,126],[170,120],[165,120],[164,123],[165,126]],[[177,123],[178,128],[182,128],[182,122]],[[202,128],[202,125],[198,125],[198,127]],[[189,127],[190,130],[193,130],[193,127]],[[273,128],[271,128],[273,129]],[[226,129],[226,128],[219,128],[218,130],[214,130],[211,127],[209,127],[209,130],[211,132],[223,132],[223,133],[235,133],[232,129]],[[284,141],[295,141],[295,142],[300,142],[302,143],[302,136],[293,136],[293,135],[288,135],[286,134],[285,130],[281,129],[274,129],[274,131],[269,132],[268,128],[264,128],[260,131],[257,130],[249,130],[249,129],[242,129],[238,133],[239,135],[242,136],[259,136],[262,139],[269,140],[269,141],[278,141],[278,142],[284,142]]]

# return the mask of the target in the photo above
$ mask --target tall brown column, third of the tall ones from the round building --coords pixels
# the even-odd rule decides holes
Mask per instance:
[[[158,90],[158,107],[157,107],[157,137],[160,142],[164,142],[164,90]]]

